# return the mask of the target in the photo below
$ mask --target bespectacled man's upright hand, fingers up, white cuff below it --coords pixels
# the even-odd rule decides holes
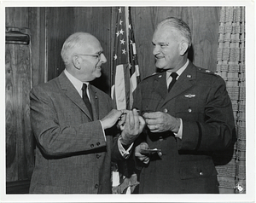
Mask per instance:
[[[139,116],[136,109],[126,114],[124,130],[121,133],[120,142],[122,145],[129,145],[134,142],[143,131],[145,121]]]

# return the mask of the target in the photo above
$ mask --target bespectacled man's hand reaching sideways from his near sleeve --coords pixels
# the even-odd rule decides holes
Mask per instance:
[[[113,125],[115,125],[118,121],[118,125],[122,125],[125,121],[125,114],[128,113],[127,110],[117,110],[112,109],[111,112],[108,113],[107,116],[105,116],[102,119],[102,126],[103,129],[106,130],[108,128],[111,128]]]

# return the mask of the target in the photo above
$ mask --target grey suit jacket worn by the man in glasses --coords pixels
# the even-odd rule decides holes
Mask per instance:
[[[65,73],[31,92],[32,130],[37,140],[30,193],[111,193],[111,151],[121,159],[102,119],[112,109],[110,97],[89,85],[93,116]]]

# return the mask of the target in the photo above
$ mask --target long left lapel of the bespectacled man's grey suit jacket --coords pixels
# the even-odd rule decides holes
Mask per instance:
[[[83,99],[79,95],[79,92],[75,89],[73,84],[69,81],[64,72],[59,76],[59,81],[61,85],[61,90],[66,94],[66,96],[73,101],[86,115],[92,120],[88,108],[85,106]]]

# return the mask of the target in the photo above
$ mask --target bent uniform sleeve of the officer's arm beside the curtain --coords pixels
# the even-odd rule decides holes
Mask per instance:
[[[183,120],[183,138],[179,149],[195,151],[224,150],[236,135],[230,96],[224,80],[214,81],[204,108],[204,121]]]

